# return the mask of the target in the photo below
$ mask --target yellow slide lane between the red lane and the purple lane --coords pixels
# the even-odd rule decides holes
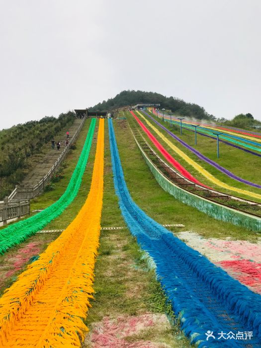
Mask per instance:
[[[148,121],[147,118],[144,117],[139,111],[137,111],[137,113],[139,114],[139,116],[141,116],[146,121],[146,123],[154,130],[154,132],[157,133],[161,137],[161,139],[164,140],[165,143],[172,150],[174,150],[174,152],[176,154],[178,154],[180,157],[182,157],[189,165],[191,165],[193,168],[195,168],[200,174],[204,175],[209,181],[214,182],[216,185],[218,185],[220,187],[223,187],[223,188],[226,188],[228,190],[235,191],[235,192],[238,192],[238,193],[243,193],[243,194],[246,194],[246,195],[248,195],[250,197],[261,199],[261,194],[254,193],[254,192],[251,192],[251,191],[248,191],[248,190],[244,190],[244,189],[241,189],[241,188],[237,188],[237,187],[234,187],[234,186],[230,186],[230,185],[226,184],[225,182],[222,182],[219,179],[215,178],[215,176],[210,174],[203,167],[201,167],[199,164],[197,164],[195,161],[193,161],[183,151],[179,150],[178,147],[176,147],[168,138],[166,138],[164,136],[163,133],[161,133],[156,127],[154,127],[154,125],[151,124],[151,122]]]

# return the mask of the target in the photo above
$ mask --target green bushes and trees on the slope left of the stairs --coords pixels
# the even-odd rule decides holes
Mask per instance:
[[[58,118],[44,117],[0,131],[0,199],[8,195],[31,167],[30,158],[42,152],[65,127],[70,127],[75,113],[62,113]]]

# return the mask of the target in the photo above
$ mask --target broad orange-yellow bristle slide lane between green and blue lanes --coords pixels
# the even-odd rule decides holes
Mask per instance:
[[[0,298],[0,347],[81,347],[99,245],[103,155],[101,119],[87,200],[60,237]]]

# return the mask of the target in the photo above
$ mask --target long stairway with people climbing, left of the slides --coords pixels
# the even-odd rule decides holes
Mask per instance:
[[[83,120],[76,119],[74,124],[68,129],[70,133],[69,140],[73,137],[76,130],[79,128]],[[60,151],[57,151],[57,147],[52,149],[51,141],[50,141],[50,150],[45,155],[39,155],[35,158],[35,163],[33,165],[33,169],[26,175],[26,177],[20,182],[20,185],[36,185],[51,169],[54,165],[55,161],[61,155],[65,148],[65,141],[67,139],[67,135],[65,134],[60,138],[54,136],[55,144],[60,140],[61,147]]]

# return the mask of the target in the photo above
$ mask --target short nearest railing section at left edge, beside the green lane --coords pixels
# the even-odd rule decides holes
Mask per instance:
[[[7,220],[20,218],[23,215],[30,214],[29,199],[9,199],[5,197],[0,205],[0,223],[7,224]]]

